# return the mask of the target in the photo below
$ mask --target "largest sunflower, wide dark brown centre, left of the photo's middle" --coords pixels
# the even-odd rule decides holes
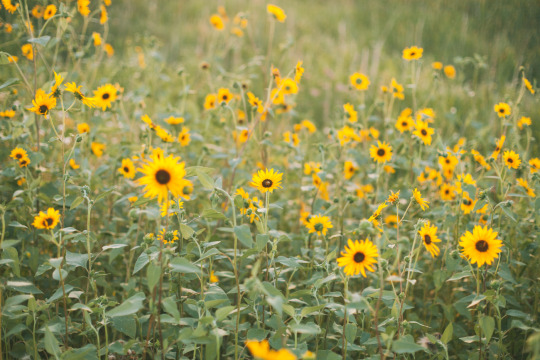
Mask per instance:
[[[144,174],[137,180],[140,186],[144,186],[144,197],[154,198],[157,196],[158,202],[167,200],[170,191],[174,198],[183,195],[183,190],[188,184],[184,179],[186,171],[184,162],[179,163],[180,158],[169,155],[167,157],[151,156],[145,164],[137,169]]]

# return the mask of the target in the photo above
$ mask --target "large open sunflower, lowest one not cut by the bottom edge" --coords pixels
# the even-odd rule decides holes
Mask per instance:
[[[367,277],[366,270],[374,272],[373,265],[379,256],[377,247],[368,239],[360,242],[349,239],[348,245],[348,248],[345,246],[345,252],[341,252],[342,257],[337,259],[338,265],[345,267],[343,272],[348,276],[362,273],[364,277]]]

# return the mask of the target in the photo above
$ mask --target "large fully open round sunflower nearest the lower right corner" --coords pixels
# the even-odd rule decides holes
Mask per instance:
[[[497,239],[498,233],[493,229],[476,225],[473,232],[467,231],[459,241],[462,247],[461,253],[478,267],[491,265],[493,260],[499,257],[503,246],[502,241]]]

